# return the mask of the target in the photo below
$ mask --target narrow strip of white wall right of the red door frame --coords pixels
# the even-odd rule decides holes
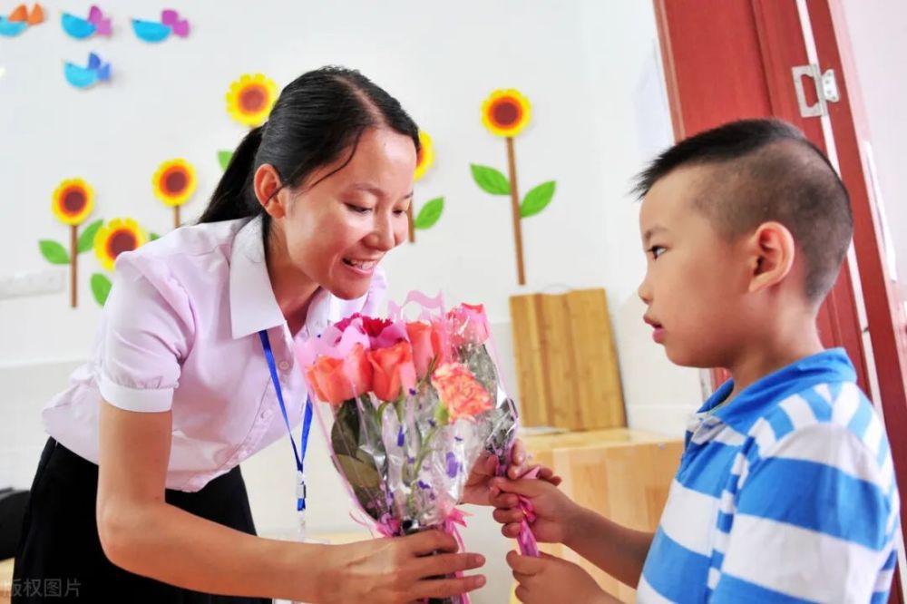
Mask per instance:
[[[902,294],[907,294],[907,4],[902,0],[844,0],[847,32],[856,64],[858,90],[863,99],[870,140],[860,141],[864,157],[874,158],[883,219],[889,244],[896,258],[896,275]],[[852,92],[853,93],[853,92]],[[891,258],[890,258],[891,260]],[[903,296],[907,298],[907,296]]]

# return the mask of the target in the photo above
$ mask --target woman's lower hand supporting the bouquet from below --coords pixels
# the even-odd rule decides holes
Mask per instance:
[[[448,578],[485,563],[474,553],[455,553],[457,543],[441,531],[361,541],[330,548],[318,602],[395,604],[449,598],[485,584],[483,575]]]

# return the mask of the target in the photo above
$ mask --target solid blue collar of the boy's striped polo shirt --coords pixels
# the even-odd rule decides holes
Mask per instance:
[[[844,348],[832,348],[766,375],[711,415],[738,433],[747,434],[757,419],[788,396],[819,384],[855,381],[856,372]],[[708,412],[723,403],[733,390],[734,380],[727,380],[702,405],[697,416],[705,419]]]

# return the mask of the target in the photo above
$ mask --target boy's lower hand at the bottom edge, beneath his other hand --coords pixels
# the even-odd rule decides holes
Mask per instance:
[[[541,558],[533,558],[511,551],[507,554],[507,564],[513,570],[513,579],[520,583],[516,597],[524,604],[619,601],[602,591],[590,574],[576,564],[546,553],[541,554]]]

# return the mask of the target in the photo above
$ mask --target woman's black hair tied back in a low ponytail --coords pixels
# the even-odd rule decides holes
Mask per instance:
[[[268,237],[268,214],[255,197],[252,179],[263,164],[280,178],[280,188],[295,188],[317,170],[346,161],[316,182],[346,167],[363,133],[386,127],[413,139],[420,151],[419,129],[400,102],[356,70],[327,66],[303,73],[280,93],[268,122],[253,128],[239,143],[199,223],[261,215]]]

